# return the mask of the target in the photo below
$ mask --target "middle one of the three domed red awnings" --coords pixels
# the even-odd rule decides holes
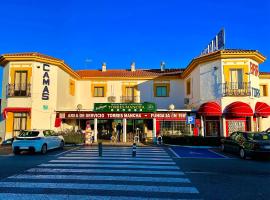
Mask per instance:
[[[231,117],[250,117],[253,116],[251,107],[243,102],[236,101],[225,108],[224,113]]]

